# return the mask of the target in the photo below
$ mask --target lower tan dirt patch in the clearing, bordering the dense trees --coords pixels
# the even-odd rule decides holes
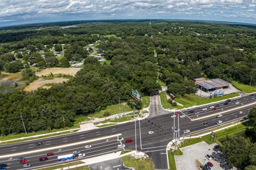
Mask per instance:
[[[65,78],[54,78],[52,80],[43,80],[42,78],[39,78],[38,80],[35,80],[34,82],[31,82],[27,87],[25,87],[25,91],[31,91],[36,90],[39,87],[49,89],[51,86],[44,86],[44,84],[47,83],[62,83],[63,81],[68,81],[68,79]]]

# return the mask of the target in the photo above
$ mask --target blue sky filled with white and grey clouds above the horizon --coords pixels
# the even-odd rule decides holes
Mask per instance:
[[[6,25],[111,19],[177,19],[256,24],[256,0],[0,0]]]

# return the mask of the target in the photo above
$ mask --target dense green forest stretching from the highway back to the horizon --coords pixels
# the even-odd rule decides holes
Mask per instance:
[[[23,132],[21,113],[29,132],[63,128],[63,118],[71,126],[77,115],[100,111],[118,103],[118,98],[131,100],[131,89],[150,95],[161,89],[157,80],[176,96],[194,93],[193,79],[199,77],[244,84],[252,78],[255,85],[255,35],[256,30],[246,25],[181,21],[86,22],[70,28],[51,23],[2,29],[1,71],[23,70],[29,79],[35,76],[24,72],[29,64],[66,67],[69,61],[85,60],[83,69],[66,83],[0,94],[0,135]],[[98,53],[110,64],[100,64],[84,49],[99,40]],[[65,57],[58,61],[49,49],[55,45],[62,50],[61,44],[65,44]],[[44,57],[39,50],[44,50]]]

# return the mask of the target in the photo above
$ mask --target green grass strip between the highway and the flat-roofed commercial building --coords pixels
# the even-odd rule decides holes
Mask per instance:
[[[162,91],[160,93],[160,98],[161,98],[161,103],[163,105],[163,108],[170,108],[170,109],[172,109],[172,108],[181,109],[181,108],[186,108],[186,107],[190,107],[190,106],[203,105],[203,104],[211,103],[214,101],[220,101],[223,99],[228,99],[228,98],[237,97],[237,96],[239,96],[239,94],[229,94],[229,95],[224,95],[221,97],[212,97],[210,99],[206,99],[206,98],[200,99],[200,97],[197,95],[185,94],[184,96],[182,96],[180,98],[178,98],[178,97],[175,98],[175,101],[182,104],[183,106],[173,107],[171,104],[169,104],[167,102],[165,91]]]

